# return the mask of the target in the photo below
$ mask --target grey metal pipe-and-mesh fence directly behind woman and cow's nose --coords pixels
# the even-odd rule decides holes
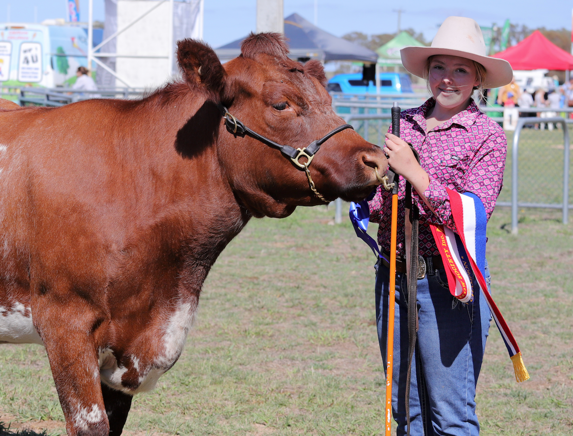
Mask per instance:
[[[359,107],[356,105],[356,107]],[[378,145],[384,141],[390,123],[390,111],[370,113],[373,105],[363,106],[368,111],[339,113],[364,139]],[[386,107],[379,109],[386,109]],[[480,108],[491,112],[492,108]],[[573,188],[570,179],[570,139],[568,125],[573,123],[568,115],[573,108],[519,108],[523,113],[541,113],[540,117],[518,117],[515,131],[507,130],[508,153],[504,173],[504,188],[497,205],[512,208],[512,233],[517,234],[518,211],[527,208],[562,209],[562,221],[568,222],[568,211],[573,209],[570,198]],[[504,109],[499,110],[503,114]],[[563,116],[553,116],[560,114]],[[504,117],[492,117],[502,123]],[[547,128],[547,129],[545,129]],[[374,139],[374,140],[372,140]],[[523,174],[523,176],[522,176]],[[523,201],[519,194],[527,195]],[[342,221],[342,202],[337,201],[335,222]]]

